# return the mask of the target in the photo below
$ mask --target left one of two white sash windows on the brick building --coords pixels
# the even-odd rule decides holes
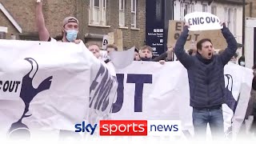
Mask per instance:
[[[90,0],[89,22],[92,25],[106,26],[106,0]]]

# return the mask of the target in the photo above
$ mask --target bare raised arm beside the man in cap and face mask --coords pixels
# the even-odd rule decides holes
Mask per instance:
[[[46,29],[45,19],[42,14],[42,0],[37,0],[36,3],[36,25],[40,41],[48,41],[50,38],[49,31]]]

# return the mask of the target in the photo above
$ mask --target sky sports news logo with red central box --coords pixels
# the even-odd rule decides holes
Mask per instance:
[[[88,132],[91,135],[97,124],[82,122],[76,124],[75,132]],[[178,136],[181,135],[180,121],[166,120],[102,120],[99,122],[101,136]]]

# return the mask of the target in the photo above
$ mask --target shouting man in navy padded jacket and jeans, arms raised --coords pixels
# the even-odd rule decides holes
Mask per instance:
[[[184,45],[188,37],[189,25],[186,24],[182,34],[176,42],[174,53],[178,60],[186,67],[190,84],[190,106],[193,107],[194,136],[206,137],[207,123],[213,138],[224,136],[224,120],[222,104],[225,98],[224,66],[234,56],[237,42],[234,35],[221,24],[222,34],[228,44],[222,54],[214,54],[213,43],[204,38],[197,43],[197,54],[186,54]]]

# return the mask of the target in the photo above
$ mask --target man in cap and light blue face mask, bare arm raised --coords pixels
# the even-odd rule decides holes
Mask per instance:
[[[38,27],[38,34],[40,41],[57,42],[50,37],[49,31],[46,29],[45,20],[42,14],[42,1],[37,0],[36,4],[36,23]],[[79,22],[77,18],[67,17],[62,22],[62,40],[60,42],[81,42],[77,39]]]

